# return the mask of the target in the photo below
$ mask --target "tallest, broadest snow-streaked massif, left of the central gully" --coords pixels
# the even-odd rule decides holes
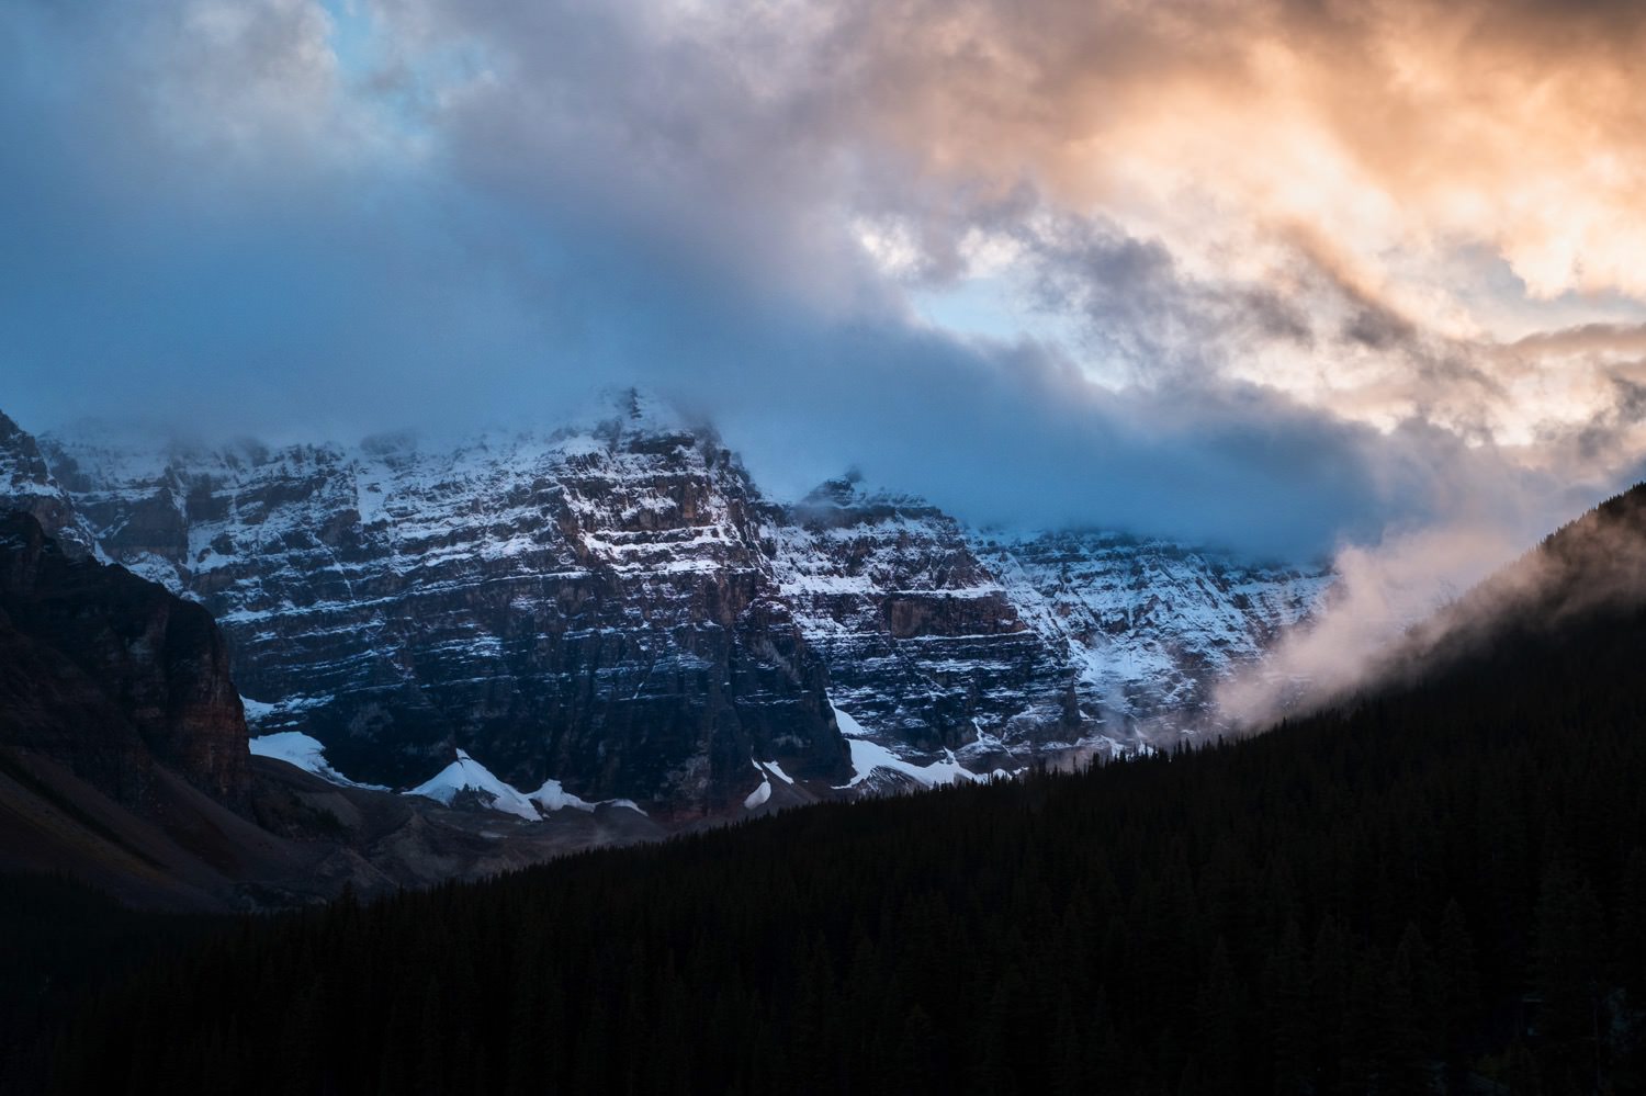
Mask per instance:
[[[342,772],[461,747],[520,787],[714,810],[749,759],[844,780],[765,504],[711,431],[629,400],[588,430],[128,454],[58,441],[110,555],[199,597],[240,688]]]

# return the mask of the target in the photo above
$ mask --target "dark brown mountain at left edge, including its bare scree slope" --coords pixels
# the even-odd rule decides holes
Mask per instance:
[[[0,867],[222,908],[235,880],[291,867],[252,800],[206,609],[0,515]]]

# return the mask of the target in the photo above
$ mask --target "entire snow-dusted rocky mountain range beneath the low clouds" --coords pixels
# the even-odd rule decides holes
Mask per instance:
[[[0,453],[28,453],[16,434]],[[760,806],[767,764],[861,792],[899,765],[1132,742],[1328,583],[1113,533],[978,533],[856,477],[779,505],[711,428],[634,392],[458,444],[77,430],[33,454],[59,530],[217,615],[255,732],[308,736],[352,780],[418,785],[456,749],[510,790],[677,816]],[[879,780],[871,745],[897,762]]]

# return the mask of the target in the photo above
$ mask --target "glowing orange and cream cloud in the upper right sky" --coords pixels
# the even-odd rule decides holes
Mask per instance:
[[[1029,186],[1160,242],[1223,311],[1269,295],[1333,329],[1225,327],[1241,378],[1516,444],[1613,406],[1593,359],[1500,347],[1646,316],[1638,3],[894,0],[807,35],[792,94],[899,165],[869,201],[904,242]]]

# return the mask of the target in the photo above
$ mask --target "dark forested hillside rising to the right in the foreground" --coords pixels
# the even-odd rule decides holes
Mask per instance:
[[[1641,502],[1256,741],[245,922],[38,1045],[63,1091],[1643,1091]]]

